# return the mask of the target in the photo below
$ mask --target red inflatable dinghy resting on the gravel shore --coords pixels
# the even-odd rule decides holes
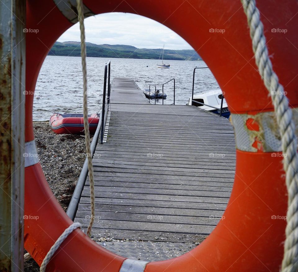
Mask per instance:
[[[88,115],[89,131],[94,134],[99,122],[99,115]],[[83,114],[54,113],[50,118],[50,126],[52,131],[57,134],[84,134]]]

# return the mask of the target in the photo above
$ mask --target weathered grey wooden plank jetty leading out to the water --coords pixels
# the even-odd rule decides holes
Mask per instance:
[[[107,141],[93,157],[93,236],[194,243],[210,234],[233,186],[229,120],[194,106],[149,104],[129,78],[113,79],[110,110]],[[75,218],[83,229],[89,198],[87,180]]]

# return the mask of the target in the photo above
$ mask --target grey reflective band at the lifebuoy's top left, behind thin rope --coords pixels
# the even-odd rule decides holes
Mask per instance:
[[[61,13],[70,21],[75,24],[78,20],[78,12],[77,12],[77,1],[76,0],[68,0],[68,1],[60,1],[53,0]],[[88,7],[84,4],[84,18],[95,15]]]

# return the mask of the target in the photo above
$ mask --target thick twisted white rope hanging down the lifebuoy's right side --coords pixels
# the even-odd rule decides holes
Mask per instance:
[[[286,172],[288,191],[288,210],[286,240],[282,260],[282,272],[294,272],[298,269],[298,155],[295,124],[292,111],[284,95],[284,89],[278,82],[272,63],[269,59],[268,48],[264,36],[264,27],[260,21],[260,12],[255,6],[255,0],[241,0],[247,16],[255,62],[264,85],[270,93],[282,136],[282,152],[284,154],[283,167]]]

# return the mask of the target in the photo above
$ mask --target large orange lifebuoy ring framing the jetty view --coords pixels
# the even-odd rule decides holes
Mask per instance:
[[[32,125],[33,95],[49,48],[75,22],[71,4],[27,1],[25,248],[40,265],[52,244],[72,221],[53,197],[36,155]],[[73,1],[68,1],[72,3]],[[56,5],[57,3],[57,5]],[[287,190],[282,171],[273,106],[255,66],[246,16],[240,1],[85,0],[87,15],[130,12],[149,17],[181,35],[205,60],[224,91],[235,126],[235,183],[221,220],[192,251],[160,262],[125,260],[75,230],[47,265],[47,271],[278,271],[283,256]],[[294,0],[260,1],[274,70],[298,106],[298,6]],[[75,7],[75,1],[74,1]],[[276,31],[274,31],[274,29]],[[287,29],[280,33],[278,29]],[[215,31],[222,30],[222,31]],[[223,31],[224,30],[224,31]],[[276,133],[275,133],[276,132]],[[35,216],[35,219],[34,219]],[[36,218],[39,218],[36,221]],[[277,219],[275,219],[277,218]],[[130,270],[133,271],[133,270]]]

